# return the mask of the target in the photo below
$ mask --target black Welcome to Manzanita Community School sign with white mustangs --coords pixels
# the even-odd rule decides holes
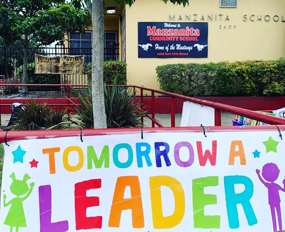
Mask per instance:
[[[207,58],[208,23],[139,22],[139,58]]]

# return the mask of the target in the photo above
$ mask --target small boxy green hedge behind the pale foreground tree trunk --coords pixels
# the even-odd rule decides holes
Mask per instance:
[[[91,83],[92,63],[87,64],[88,83]],[[112,85],[114,78],[117,77],[118,85],[124,85],[127,82],[127,64],[119,60],[105,61],[103,64],[104,82],[106,85]]]

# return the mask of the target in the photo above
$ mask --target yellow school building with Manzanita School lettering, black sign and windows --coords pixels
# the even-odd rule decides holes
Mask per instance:
[[[155,68],[164,64],[285,55],[285,1],[189,0],[185,8],[160,0],[136,0],[132,7],[105,2],[104,58],[125,61],[131,85],[159,89]],[[92,25],[67,35],[66,47],[92,47],[91,33]]]

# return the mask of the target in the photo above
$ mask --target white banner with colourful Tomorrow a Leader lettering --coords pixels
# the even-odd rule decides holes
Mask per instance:
[[[1,232],[285,228],[285,141],[277,129],[83,140],[4,144]]]

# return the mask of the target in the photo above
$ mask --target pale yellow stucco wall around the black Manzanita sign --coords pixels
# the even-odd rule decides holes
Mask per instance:
[[[164,4],[160,0],[136,0],[132,7],[126,7],[128,84],[159,89],[155,71],[158,65],[274,60],[284,57],[285,1],[237,1],[237,8],[220,8],[219,0],[189,0],[189,6],[185,8],[172,3]],[[185,14],[190,14],[190,21]],[[138,58],[138,22],[194,22],[194,14],[197,14],[196,22],[208,22],[208,58]],[[213,21],[207,20],[208,14],[213,14]],[[170,20],[169,15],[175,15],[175,20]],[[178,20],[180,15],[182,20]],[[202,15],[205,21],[201,20]],[[226,15],[229,21],[225,21]],[[246,21],[243,21],[244,15],[247,15]],[[255,15],[251,17],[254,21],[250,20],[251,15]],[[259,18],[262,16],[261,21],[257,21],[257,15]],[[264,20],[265,15],[270,16],[270,21]],[[273,21],[274,15],[279,16],[278,22]],[[274,19],[277,20],[277,17]]]

